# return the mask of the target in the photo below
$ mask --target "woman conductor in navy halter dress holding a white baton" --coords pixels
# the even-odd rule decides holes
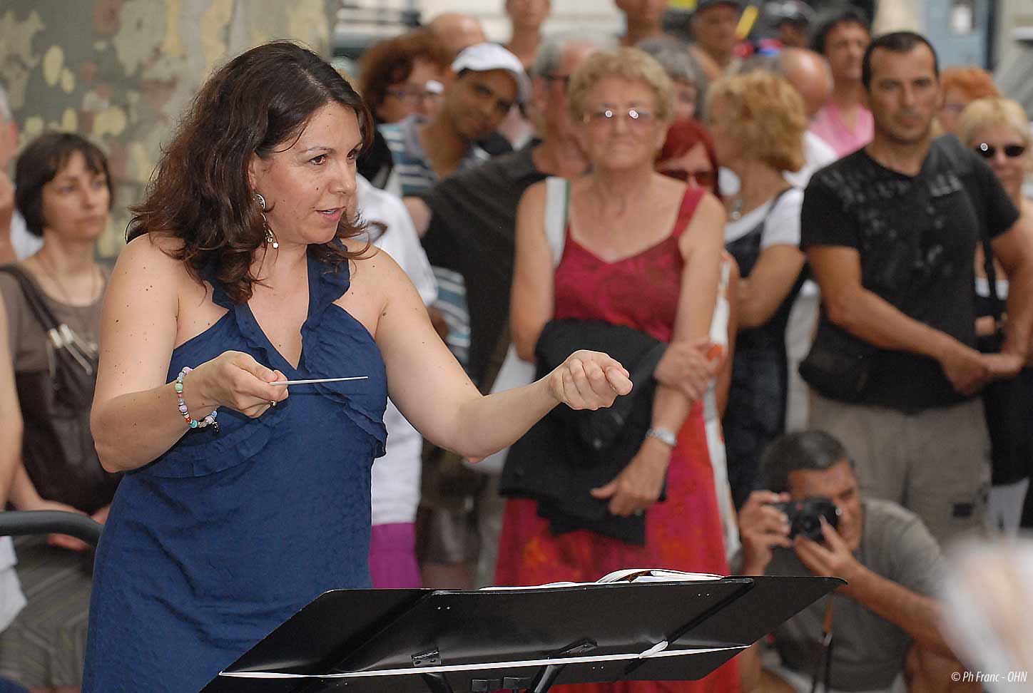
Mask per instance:
[[[198,690],[318,595],[370,586],[388,389],[474,459],[561,402],[630,390],[614,359],[577,351],[477,391],[398,264],[356,238],[371,130],[326,62],[267,43],[201,87],[133,208],[92,413],[101,463],[126,475],[97,549],[86,693]],[[286,382],[325,378],[361,379]]]

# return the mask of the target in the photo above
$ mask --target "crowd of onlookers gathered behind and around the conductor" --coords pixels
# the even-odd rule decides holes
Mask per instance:
[[[348,75],[374,128],[347,214],[477,388],[577,348],[635,383],[483,461],[388,402],[373,585],[849,573],[839,659],[819,655],[821,604],[701,682],[617,688],[806,690],[820,656],[827,690],[964,687],[941,547],[1033,524],[1027,114],[920,36],[873,49],[850,7],[781,3],[744,40],[740,3],[700,0],[685,42],[665,2],[615,2],[623,36],[551,35],[549,0],[507,0],[505,44],[443,14]],[[103,523],[121,476],[90,438],[107,162],[57,132],[14,157],[2,93],[0,125],[0,497]],[[796,537],[778,504],[819,496],[838,526]],[[0,675],[80,690],[91,550],[0,544]]]

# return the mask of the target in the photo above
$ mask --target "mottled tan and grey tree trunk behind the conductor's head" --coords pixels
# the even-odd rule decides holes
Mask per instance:
[[[180,114],[214,67],[273,38],[330,55],[340,0],[0,0],[0,83],[22,147],[77,131],[111,158],[116,207],[100,253],[121,248]]]

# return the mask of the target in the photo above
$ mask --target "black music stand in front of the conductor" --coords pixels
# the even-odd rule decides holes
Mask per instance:
[[[201,693],[545,693],[701,679],[844,581],[724,577],[506,590],[335,590]]]

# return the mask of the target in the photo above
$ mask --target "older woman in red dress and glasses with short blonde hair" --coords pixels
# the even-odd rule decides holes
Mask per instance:
[[[637,452],[615,478],[575,492],[596,499],[607,518],[644,517],[645,541],[584,527],[554,532],[536,501],[511,499],[498,585],[595,580],[628,566],[728,570],[700,404],[720,361],[708,357],[714,356],[708,336],[724,212],[707,190],[654,170],[671,120],[671,92],[663,68],[636,49],[593,54],[574,71],[568,105],[590,172],[565,182],[558,264],[543,216],[550,182],[524,194],[510,305],[512,341],[529,361],[553,319],[601,320],[668,343],[654,371],[651,428]],[[664,484],[665,500],[658,502]],[[675,688],[650,682],[605,690]],[[725,667],[702,682],[680,682],[677,690],[738,690],[738,675]]]

